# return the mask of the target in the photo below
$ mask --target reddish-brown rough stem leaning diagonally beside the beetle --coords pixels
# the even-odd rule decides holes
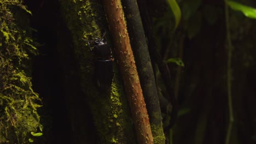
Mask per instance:
[[[103,3],[114,41],[115,57],[123,76],[126,95],[135,123],[138,143],[153,143],[146,104],[139,83],[121,2],[105,0]]]

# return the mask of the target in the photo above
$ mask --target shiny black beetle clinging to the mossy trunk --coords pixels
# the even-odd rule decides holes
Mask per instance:
[[[105,35],[105,34],[104,34]],[[95,62],[95,77],[97,82],[97,87],[100,88],[101,91],[106,91],[110,88],[112,84],[112,79],[114,76],[113,71],[113,61],[114,58],[112,56],[112,51],[110,49],[110,45],[104,39],[104,35],[102,38],[95,38],[94,40],[85,40],[90,44],[93,44],[94,47],[92,51],[96,57]]]

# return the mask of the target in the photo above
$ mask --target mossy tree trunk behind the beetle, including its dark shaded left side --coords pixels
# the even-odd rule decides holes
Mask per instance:
[[[78,91],[81,91],[81,94],[70,91],[66,94],[74,143],[88,141],[89,138],[86,139],[86,136],[93,132],[85,124],[86,119],[90,118],[85,111],[90,111],[98,136],[98,139],[90,142],[136,143],[127,100],[116,65],[114,64],[115,75],[109,91],[98,91],[94,77],[94,53],[91,52],[88,43],[83,40],[101,38],[104,32],[108,38],[102,5],[96,1],[75,0],[61,0],[59,3],[63,19],[60,25],[66,27],[68,33],[65,36],[61,29],[58,31],[60,43],[57,47],[60,59],[63,61],[63,75],[66,80],[64,85],[66,88],[73,87],[73,89],[79,87]],[[75,82],[74,77],[79,83],[72,83]]]

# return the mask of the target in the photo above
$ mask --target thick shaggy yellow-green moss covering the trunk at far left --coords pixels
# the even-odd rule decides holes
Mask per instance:
[[[19,0],[0,1],[0,143],[29,143],[42,131],[30,57],[37,53],[28,27],[30,11]]]

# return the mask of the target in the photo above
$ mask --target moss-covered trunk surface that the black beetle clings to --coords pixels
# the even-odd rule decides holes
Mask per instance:
[[[83,97],[78,99],[89,105],[96,126],[97,142],[136,143],[126,96],[116,65],[114,65],[115,75],[111,89],[107,92],[98,91],[94,77],[94,53],[91,52],[88,43],[82,40],[82,38],[93,40],[102,37],[105,32],[108,38],[108,28],[102,5],[95,1],[61,0],[59,2],[63,20],[70,33],[71,51],[74,53],[74,61],[77,65],[79,87],[83,92]],[[59,48],[60,52],[62,48]],[[72,98],[67,99],[72,100]],[[83,106],[81,105],[80,108],[83,109]],[[83,111],[80,114],[83,115]],[[71,116],[71,121],[75,123],[78,122],[78,119]],[[81,123],[79,127],[83,127],[83,124]],[[80,131],[80,137],[84,137],[88,133],[90,133],[88,129],[83,129]],[[83,141],[77,141],[77,143],[83,143]]]

